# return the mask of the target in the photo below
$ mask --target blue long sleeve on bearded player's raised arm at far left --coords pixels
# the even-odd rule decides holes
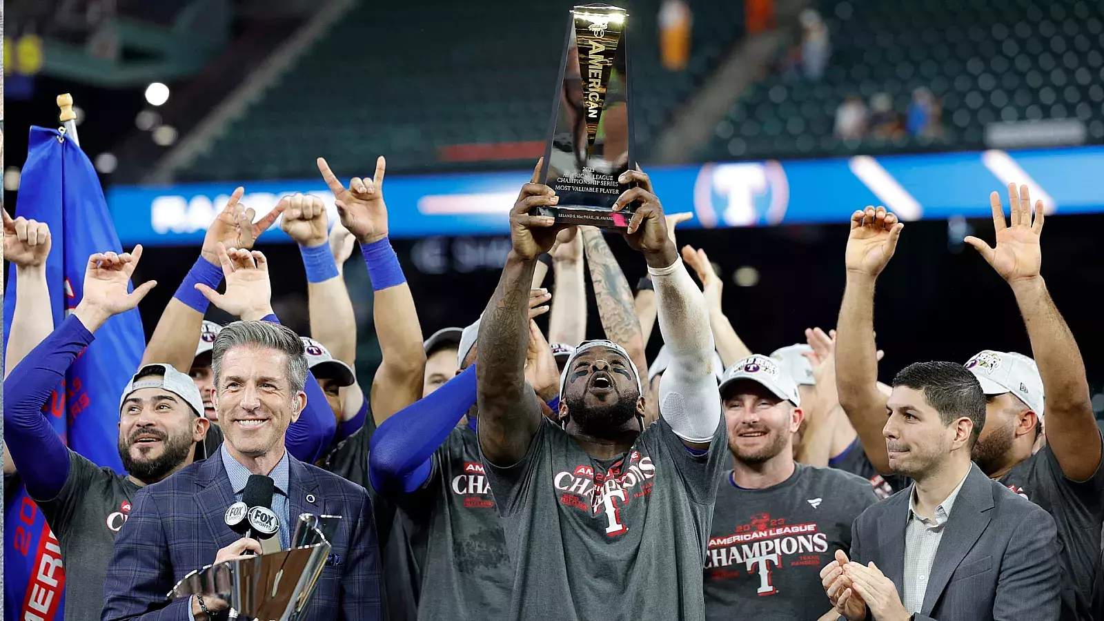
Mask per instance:
[[[70,315],[12,369],[3,382],[3,440],[26,492],[57,497],[70,474],[70,452],[42,412],[65,371],[95,337]]]

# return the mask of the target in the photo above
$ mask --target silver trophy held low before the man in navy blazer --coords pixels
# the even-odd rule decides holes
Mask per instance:
[[[231,506],[226,512],[227,524],[240,520],[238,513],[245,512]],[[264,537],[268,530],[264,524],[266,517],[246,516],[245,519],[253,522],[256,534]],[[167,599],[219,598],[230,604],[231,618],[241,621],[295,621],[306,611],[315,592],[339,519],[340,516],[299,514],[290,549],[197,569],[184,576]],[[275,531],[272,528],[272,534]]]

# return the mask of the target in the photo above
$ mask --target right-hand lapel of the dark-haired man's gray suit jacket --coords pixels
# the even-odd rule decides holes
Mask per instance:
[[[924,606],[921,614],[930,615],[935,602],[940,600],[951,575],[974,547],[974,544],[985,533],[992,516],[989,512],[992,504],[992,488],[989,477],[976,465],[970,464],[966,482],[958,491],[958,497],[951,507],[951,516],[944,527],[943,538],[935,551],[935,562],[932,564],[932,575],[924,592]]]

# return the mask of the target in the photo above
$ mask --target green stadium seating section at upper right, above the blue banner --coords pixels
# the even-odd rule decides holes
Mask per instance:
[[[1104,143],[1104,3],[1090,0],[824,0],[831,60],[820,81],[774,73],[750,86],[699,159],[984,148],[994,122],[1079,119]],[[942,135],[839,140],[850,95],[885,93],[904,114],[917,87],[942,103]]]

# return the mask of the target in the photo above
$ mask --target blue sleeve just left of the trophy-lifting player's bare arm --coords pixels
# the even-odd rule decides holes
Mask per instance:
[[[476,366],[385,420],[372,435],[368,475],[381,494],[408,494],[433,472],[433,453],[476,402]]]

